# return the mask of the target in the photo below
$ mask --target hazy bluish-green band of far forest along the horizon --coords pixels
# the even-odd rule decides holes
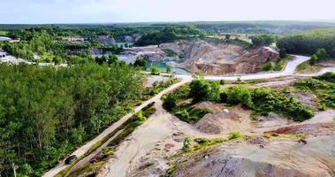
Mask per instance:
[[[52,25],[0,25],[0,30],[59,27],[74,31],[88,29],[99,31],[100,29],[117,34],[146,34],[164,27],[187,27],[200,28],[208,33],[244,33],[244,34],[288,34],[297,31],[306,31],[316,28],[335,27],[334,23],[326,22],[304,22],[304,21],[199,21],[199,22],[153,22],[153,23],[118,23],[118,24],[52,24]],[[143,33],[144,32],[144,33]],[[114,36],[117,36],[114,34]]]

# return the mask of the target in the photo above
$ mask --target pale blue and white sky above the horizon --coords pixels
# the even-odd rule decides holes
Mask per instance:
[[[0,0],[0,24],[335,21],[335,0]]]

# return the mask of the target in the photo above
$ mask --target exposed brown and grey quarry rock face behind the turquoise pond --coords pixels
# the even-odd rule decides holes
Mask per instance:
[[[184,55],[185,60],[180,66],[192,73],[255,73],[268,60],[276,62],[278,59],[278,52],[269,48],[246,50],[224,42],[179,41],[161,44],[160,48]]]

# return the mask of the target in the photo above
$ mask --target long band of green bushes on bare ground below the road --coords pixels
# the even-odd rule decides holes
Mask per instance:
[[[219,83],[204,81],[202,79],[194,80],[190,83],[188,89],[179,89],[175,93],[176,100],[193,98],[194,103],[199,101],[214,101],[225,104],[242,104],[255,113],[263,114],[268,112],[276,112],[284,115],[289,119],[303,121],[314,116],[312,110],[293,97],[288,97],[280,91],[271,91],[270,89],[251,89],[246,86],[234,86],[229,89],[221,90]],[[187,86],[186,86],[187,87]],[[181,91],[189,90],[188,96],[180,94]],[[331,99],[328,96],[328,99]],[[200,112],[201,111],[201,112]],[[179,106],[171,109],[179,119],[189,123],[197,122],[210,110],[196,111],[191,105]]]

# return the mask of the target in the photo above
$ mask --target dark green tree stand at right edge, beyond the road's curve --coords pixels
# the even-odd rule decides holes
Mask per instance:
[[[312,55],[318,49],[325,49],[331,58],[335,58],[335,28],[286,35],[279,38],[277,44],[279,49],[297,54]]]

